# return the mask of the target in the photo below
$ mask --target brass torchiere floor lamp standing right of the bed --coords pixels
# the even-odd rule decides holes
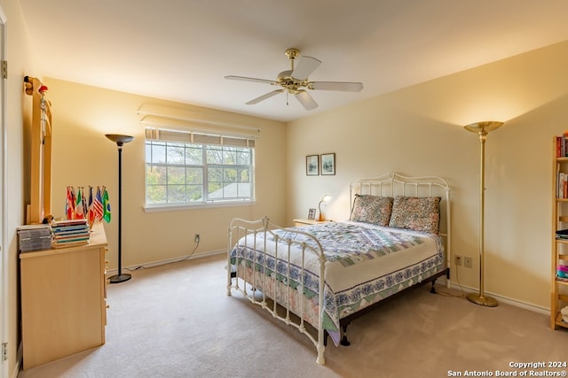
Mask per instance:
[[[472,133],[479,135],[479,143],[481,145],[481,174],[479,185],[479,293],[469,293],[467,298],[469,302],[476,305],[485,305],[487,307],[495,307],[497,300],[493,297],[485,296],[484,293],[484,243],[485,243],[485,139],[490,131],[497,127],[501,127],[503,122],[485,121],[471,123],[464,128]]]

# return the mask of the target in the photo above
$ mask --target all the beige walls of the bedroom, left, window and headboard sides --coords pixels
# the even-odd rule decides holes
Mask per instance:
[[[4,209],[9,253],[9,371],[15,375],[19,343],[15,229],[28,200],[23,149],[30,97],[24,75],[41,77],[16,0],[0,0],[8,18],[7,155],[10,202]],[[130,134],[123,153],[123,265],[184,256],[201,234],[197,253],[225,249],[233,217],[264,214],[282,225],[305,217],[319,198],[333,196],[327,212],[348,218],[348,184],[390,170],[437,174],[453,187],[453,251],[475,258],[461,268],[461,283],[477,287],[479,143],[462,125],[503,120],[486,146],[485,289],[519,303],[548,308],[550,282],[551,137],[568,129],[568,42],[467,72],[352,104],[288,126],[238,114],[176,104],[76,83],[45,79],[53,104],[53,209],[64,212],[65,187],[105,184],[117,199],[117,152],[106,133]],[[380,74],[380,73],[377,73]],[[338,95],[340,96],[340,95]],[[257,201],[252,206],[144,212],[144,138],[136,111],[142,104],[174,107],[259,127]],[[305,176],[305,156],[335,152],[335,176]],[[116,223],[106,225],[110,266],[116,266]],[[222,268],[222,266],[220,266]],[[455,281],[455,271],[452,274]]]

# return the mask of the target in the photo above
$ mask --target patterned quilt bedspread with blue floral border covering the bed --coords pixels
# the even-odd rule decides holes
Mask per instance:
[[[336,345],[340,340],[340,319],[444,269],[444,248],[438,235],[361,222],[275,230],[278,248],[271,234],[266,234],[266,243],[264,233],[248,235],[246,243],[242,238],[231,252],[237,275],[280,305],[288,305],[290,311],[304,312],[304,319],[315,328],[319,324],[318,257],[306,252],[302,274],[301,248],[293,247],[290,264],[288,253],[283,251],[287,251],[287,239],[304,242],[316,250],[318,246],[312,238],[294,230],[315,236],[323,248],[326,286],[321,316],[323,328]],[[261,251],[264,245],[265,253]]]

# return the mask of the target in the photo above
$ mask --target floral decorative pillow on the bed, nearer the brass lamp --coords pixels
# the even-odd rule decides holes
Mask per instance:
[[[389,227],[438,234],[441,199],[441,197],[395,197]]]

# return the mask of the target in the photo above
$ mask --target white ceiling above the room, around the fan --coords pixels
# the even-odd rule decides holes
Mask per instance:
[[[565,0],[20,0],[43,76],[296,120],[568,40]],[[284,51],[323,63],[311,81],[362,81],[245,103],[274,87]]]

